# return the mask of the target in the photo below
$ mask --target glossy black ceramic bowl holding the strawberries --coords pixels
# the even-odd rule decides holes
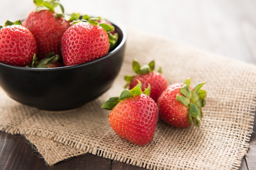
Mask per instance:
[[[14,100],[44,110],[67,110],[90,102],[113,84],[125,51],[126,31],[115,24],[115,49],[76,66],[26,68],[0,63],[0,86]]]

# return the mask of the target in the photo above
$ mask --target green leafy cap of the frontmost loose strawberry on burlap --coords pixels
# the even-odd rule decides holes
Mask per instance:
[[[148,85],[148,88],[145,89],[144,92],[141,90],[141,82],[138,80],[138,84],[132,88],[131,90],[125,89],[119,97],[111,97],[108,101],[106,101],[101,108],[104,108],[106,110],[112,110],[119,102],[122,100],[125,100],[127,98],[132,98],[134,96],[145,94],[150,94],[150,84]]]

